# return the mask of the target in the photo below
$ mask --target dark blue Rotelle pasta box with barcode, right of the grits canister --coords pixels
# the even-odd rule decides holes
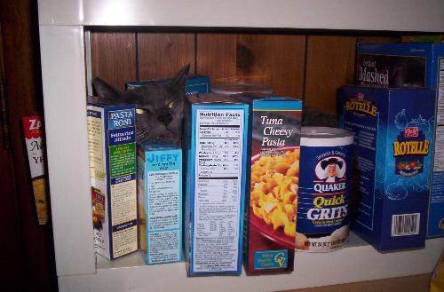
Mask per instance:
[[[355,133],[354,232],[380,251],[424,247],[434,91],[343,86],[339,108]]]

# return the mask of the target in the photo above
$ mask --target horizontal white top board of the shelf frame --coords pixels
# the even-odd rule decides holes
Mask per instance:
[[[40,25],[444,31],[442,0],[39,0]]]

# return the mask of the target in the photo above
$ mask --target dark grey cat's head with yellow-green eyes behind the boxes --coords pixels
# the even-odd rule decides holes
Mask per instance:
[[[172,78],[152,81],[121,92],[96,78],[99,100],[136,105],[138,142],[165,142],[180,145],[185,102],[185,82],[189,65]]]

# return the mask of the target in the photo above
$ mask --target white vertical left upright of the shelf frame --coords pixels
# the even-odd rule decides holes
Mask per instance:
[[[40,28],[57,274],[95,272],[82,27]]]

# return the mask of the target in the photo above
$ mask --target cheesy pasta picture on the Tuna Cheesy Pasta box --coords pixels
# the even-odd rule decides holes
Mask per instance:
[[[276,149],[281,156],[251,157],[250,228],[287,249],[295,248],[298,146]]]

